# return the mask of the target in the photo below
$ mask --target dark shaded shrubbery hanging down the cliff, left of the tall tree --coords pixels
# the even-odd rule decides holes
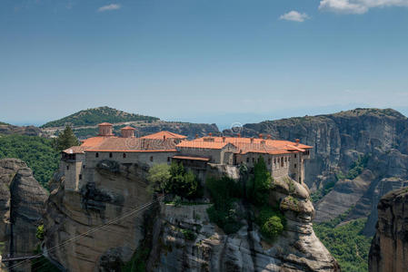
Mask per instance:
[[[238,182],[226,176],[220,180],[209,178],[205,182],[214,205],[207,209],[208,217],[226,234],[235,233],[241,228],[240,215],[234,209],[234,202],[242,197],[242,187]]]

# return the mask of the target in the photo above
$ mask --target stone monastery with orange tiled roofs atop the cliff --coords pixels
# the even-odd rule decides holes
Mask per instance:
[[[119,137],[114,135],[112,124],[100,123],[98,136],[63,151],[60,170],[65,172],[65,189],[78,190],[83,180],[93,181],[96,166],[106,160],[149,167],[177,161],[203,178],[208,166],[239,167],[244,164],[252,168],[260,156],[264,157],[274,179],[290,177],[302,183],[304,160],[310,159],[312,149],[299,140],[273,140],[262,134],[259,138],[244,138],[239,134],[237,137],[215,137],[210,133],[187,140],[186,136],[169,131],[136,138],[134,131],[126,126]]]

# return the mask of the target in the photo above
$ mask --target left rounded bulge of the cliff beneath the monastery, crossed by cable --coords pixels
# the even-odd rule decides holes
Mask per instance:
[[[97,169],[94,180],[80,191],[65,191],[64,176],[56,173],[45,213],[48,256],[68,271],[120,271],[144,237],[143,212],[53,248],[150,202],[147,170],[136,164],[120,165],[114,171]]]

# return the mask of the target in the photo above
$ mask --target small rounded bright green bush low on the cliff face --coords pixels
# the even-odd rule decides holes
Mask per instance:
[[[265,238],[277,238],[284,231],[284,214],[278,208],[264,206],[259,210],[255,223],[261,227]]]

